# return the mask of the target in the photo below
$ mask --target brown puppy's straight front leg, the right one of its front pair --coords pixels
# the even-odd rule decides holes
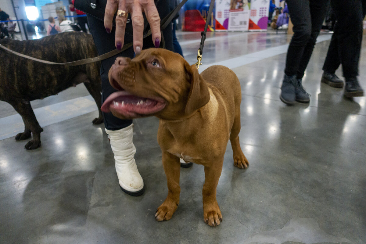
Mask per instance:
[[[203,220],[209,226],[217,226],[223,221],[223,215],[216,200],[216,187],[219,183],[224,158],[205,166],[205,184],[202,189]]]

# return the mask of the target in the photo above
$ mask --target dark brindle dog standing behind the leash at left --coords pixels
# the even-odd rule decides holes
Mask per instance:
[[[71,31],[50,35],[38,40],[16,41],[9,38],[0,44],[37,59],[65,63],[97,56],[97,50],[91,35]],[[43,64],[16,56],[0,49],[0,100],[11,104],[23,119],[24,132],[15,136],[15,140],[25,140],[33,134],[33,140],[26,149],[36,149],[41,145],[41,132],[31,108],[30,101],[56,95],[71,86],[84,83],[94,98],[99,117],[93,124],[103,122],[101,106],[100,63],[78,66]]]

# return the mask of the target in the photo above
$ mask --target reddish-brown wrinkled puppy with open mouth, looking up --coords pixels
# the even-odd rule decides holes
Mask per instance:
[[[240,149],[241,88],[238,77],[224,66],[212,66],[201,75],[182,56],[165,49],[146,49],[134,59],[119,57],[109,70],[111,85],[119,90],[102,111],[120,118],[156,116],[158,143],[168,181],[168,196],[155,218],[168,220],[179,204],[179,158],[205,166],[203,219],[217,226],[222,215],[216,200],[227,142],[234,165],[247,168]]]

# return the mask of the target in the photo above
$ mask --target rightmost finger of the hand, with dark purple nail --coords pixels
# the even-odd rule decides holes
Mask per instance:
[[[149,1],[144,6],[144,11],[146,15],[146,19],[150,24],[151,35],[155,47],[158,48],[160,45],[161,40],[161,33],[160,33],[160,16],[156,9],[156,6],[153,1]]]

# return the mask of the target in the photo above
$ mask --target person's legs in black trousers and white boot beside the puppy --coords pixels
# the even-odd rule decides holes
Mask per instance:
[[[163,19],[169,13],[167,0],[158,1],[157,9],[160,14],[160,18]],[[89,21],[90,31],[93,35],[98,54],[102,55],[116,49],[115,27],[113,27],[110,34],[107,34],[103,21],[96,19],[91,15],[87,15],[87,19]],[[126,26],[124,39],[125,44],[132,42],[132,35],[127,32],[132,33],[131,23],[128,23]],[[173,50],[171,25],[168,25],[168,27],[163,30],[163,36],[165,48]],[[154,47],[151,36],[147,37],[143,41],[143,48],[150,47]],[[101,61],[100,74],[102,80],[102,102],[104,102],[110,94],[116,91],[109,84],[108,72],[117,56],[133,58],[133,48],[128,48],[116,56]],[[103,116],[105,130],[111,142],[113,154],[115,155],[115,167],[120,188],[129,195],[141,195],[145,188],[134,159],[136,149],[132,142],[132,120],[121,120],[114,117],[111,113],[103,113]]]

